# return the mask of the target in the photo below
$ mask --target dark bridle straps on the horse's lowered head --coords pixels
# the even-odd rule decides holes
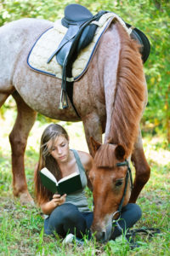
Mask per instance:
[[[113,213],[113,221],[117,222],[118,219],[121,218],[121,212],[122,212],[122,205],[123,205],[123,202],[124,202],[124,199],[125,199],[125,195],[127,193],[127,183],[128,183],[128,178],[130,177],[130,186],[131,186],[131,191],[133,189],[133,177],[132,177],[132,171],[131,171],[131,168],[128,164],[128,161],[125,160],[124,162],[120,162],[120,163],[117,163],[116,166],[127,166],[127,174],[126,174],[126,177],[125,177],[125,188],[124,188],[124,192],[123,192],[123,195],[122,195],[122,200],[120,202],[120,205],[117,209],[116,212]],[[115,215],[119,213],[119,217],[117,219],[114,219]]]

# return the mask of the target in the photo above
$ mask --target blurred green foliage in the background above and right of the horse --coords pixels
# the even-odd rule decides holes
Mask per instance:
[[[168,0],[3,0],[0,3],[0,26],[24,17],[57,20],[64,15],[65,6],[79,3],[96,14],[105,9],[116,12],[129,24],[138,27],[150,39],[149,60],[144,71],[149,90],[149,103],[142,124],[145,131],[167,131],[170,142],[170,2]]]

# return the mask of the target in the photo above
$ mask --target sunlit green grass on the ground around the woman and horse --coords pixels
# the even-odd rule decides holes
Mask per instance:
[[[7,113],[8,114],[8,113]],[[143,216],[134,228],[159,228],[153,238],[138,236],[140,247],[130,249],[122,236],[105,244],[95,239],[85,246],[64,246],[59,236],[43,234],[42,212],[36,206],[21,206],[12,193],[12,173],[8,129],[13,117],[1,119],[0,146],[0,255],[169,255],[170,248],[170,152],[160,137],[145,137],[144,150],[151,167],[150,181],[139,195],[138,204]],[[82,124],[63,123],[71,137],[71,148],[88,151]],[[46,125],[34,125],[26,148],[26,178],[33,195],[33,170],[38,159],[38,145]],[[75,134],[76,131],[76,134]],[[81,142],[81,143],[80,143]],[[92,196],[87,189],[89,205]]]

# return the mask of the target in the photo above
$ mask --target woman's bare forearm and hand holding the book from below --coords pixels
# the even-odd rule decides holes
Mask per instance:
[[[54,208],[59,207],[65,202],[65,195],[54,195],[53,199],[51,201],[44,202],[40,205],[42,212],[44,214],[50,214],[51,212],[54,211]]]

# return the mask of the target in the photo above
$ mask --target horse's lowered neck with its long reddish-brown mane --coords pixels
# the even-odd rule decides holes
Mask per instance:
[[[105,143],[110,138],[112,143],[121,143],[129,156],[138,136],[144,108],[145,80],[141,55],[137,44],[118,23],[107,32],[105,52]]]

